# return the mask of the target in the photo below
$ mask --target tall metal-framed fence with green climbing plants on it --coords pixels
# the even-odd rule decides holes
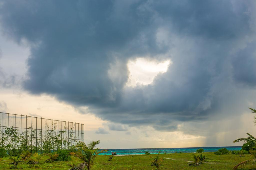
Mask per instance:
[[[51,152],[84,141],[84,124],[0,112],[0,147]]]

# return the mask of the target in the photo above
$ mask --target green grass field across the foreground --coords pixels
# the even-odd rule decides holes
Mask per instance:
[[[239,157],[239,155],[227,154],[227,155],[215,155],[213,152],[203,153],[207,160],[204,164],[198,167],[188,166],[188,162],[192,160],[191,153],[172,153],[161,154],[163,157],[163,163],[160,169],[232,169],[236,164],[243,160],[251,158],[250,154],[246,154],[245,157]],[[151,154],[153,155],[153,154]],[[54,162],[43,163],[48,157],[44,156],[39,164],[35,168],[31,168],[26,164],[27,161],[21,162],[18,168],[23,169],[69,169],[68,164],[81,163],[77,158],[73,158],[69,162]],[[108,161],[109,155],[99,155],[94,161],[92,169],[130,169],[132,166],[134,169],[155,169],[151,166],[151,159],[148,155],[129,155],[129,156],[114,156],[112,161]],[[172,160],[175,159],[175,160]],[[0,169],[9,169],[11,161],[8,158],[3,158],[0,162]],[[243,169],[253,169],[253,165],[247,165]]]

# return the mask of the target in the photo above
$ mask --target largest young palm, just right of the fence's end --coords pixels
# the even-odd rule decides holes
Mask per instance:
[[[88,170],[91,169],[93,165],[93,161],[99,153],[108,151],[107,149],[99,150],[99,148],[94,148],[96,145],[100,143],[100,140],[91,141],[87,145],[84,142],[79,141],[77,147],[79,150],[77,152],[70,152],[70,155],[76,156],[81,159],[83,162],[79,164],[77,167],[79,170],[87,167]]]

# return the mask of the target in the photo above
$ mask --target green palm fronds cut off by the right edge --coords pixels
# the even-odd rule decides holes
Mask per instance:
[[[252,109],[252,108],[249,108],[249,109],[251,110],[252,113],[256,113],[255,109]],[[256,126],[256,116],[254,116],[254,124]],[[256,138],[253,137],[250,133],[247,133],[247,137],[239,138],[237,140],[234,140],[233,143],[241,142],[241,141],[245,141],[245,142],[248,142],[248,143],[253,143],[254,146],[255,146]],[[253,164],[254,165],[256,163],[256,148],[255,147],[251,148],[249,150],[249,153],[251,153],[252,159],[240,162],[233,169],[237,169],[239,166],[243,167],[244,165],[247,165],[247,164]]]

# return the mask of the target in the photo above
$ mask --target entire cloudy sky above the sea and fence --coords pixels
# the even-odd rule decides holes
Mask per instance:
[[[255,1],[0,0],[0,111],[85,124],[102,148],[254,134]]]

